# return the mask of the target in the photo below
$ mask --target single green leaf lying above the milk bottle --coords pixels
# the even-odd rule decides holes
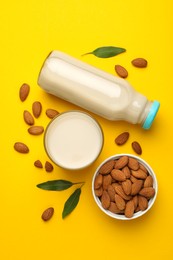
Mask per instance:
[[[85,53],[84,55],[93,54],[99,58],[110,58],[125,51],[126,49],[120,47],[104,46],[104,47],[97,48],[92,52]]]

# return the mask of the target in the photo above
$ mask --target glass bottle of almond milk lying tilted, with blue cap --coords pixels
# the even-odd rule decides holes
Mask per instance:
[[[108,120],[125,120],[149,129],[160,103],[149,101],[124,79],[60,51],[52,51],[38,84],[45,91]]]

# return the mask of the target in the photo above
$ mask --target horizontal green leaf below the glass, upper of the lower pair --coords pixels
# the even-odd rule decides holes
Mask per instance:
[[[70,188],[74,184],[76,183],[72,183],[71,181],[54,180],[40,183],[37,187],[43,190],[61,191]]]

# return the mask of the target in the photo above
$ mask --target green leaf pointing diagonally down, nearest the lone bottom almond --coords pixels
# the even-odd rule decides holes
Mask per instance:
[[[81,194],[81,188],[76,189],[64,204],[62,218],[69,215],[77,206]]]

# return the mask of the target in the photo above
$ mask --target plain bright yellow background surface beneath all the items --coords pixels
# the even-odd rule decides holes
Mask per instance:
[[[158,259],[172,257],[173,173],[172,173],[172,60],[173,4],[171,0],[23,0],[3,1],[0,8],[1,67],[1,178],[0,178],[0,258],[29,259]],[[110,59],[81,54],[100,46],[119,46],[126,53]],[[23,111],[31,111],[40,101],[43,111],[37,125],[50,121],[47,108],[59,112],[78,107],[46,94],[37,85],[41,65],[51,50],[64,51],[113,75],[115,64],[129,72],[128,81],[148,99],[161,102],[149,131],[126,122],[100,122],[105,144],[97,161],[89,168],[70,172],[54,165],[53,173],[37,169],[33,163],[48,160],[43,135],[31,136],[23,121]],[[146,69],[137,69],[131,60],[144,57]],[[31,86],[25,102],[19,99],[22,83]],[[82,109],[81,109],[82,110]],[[115,137],[129,131],[128,142],[117,147]],[[159,192],[153,208],[143,217],[118,221],[103,214],[91,193],[92,176],[108,156],[134,154],[137,140],[141,157],[153,168]],[[19,154],[16,141],[28,144],[30,152]],[[64,202],[75,187],[63,192],[46,192],[36,184],[53,179],[85,181],[77,208],[64,220]],[[55,208],[45,223],[41,214]]]

